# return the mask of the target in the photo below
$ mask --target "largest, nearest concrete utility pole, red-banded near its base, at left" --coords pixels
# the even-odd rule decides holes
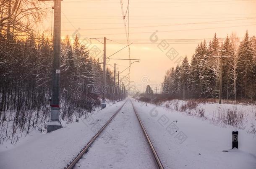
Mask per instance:
[[[49,1],[49,0],[39,0]],[[47,124],[47,133],[60,129],[60,40],[61,40],[61,1],[54,0],[53,24],[53,63],[52,63],[52,98],[51,117]]]

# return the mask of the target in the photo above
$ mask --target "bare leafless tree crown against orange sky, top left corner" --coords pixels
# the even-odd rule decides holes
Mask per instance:
[[[1,0],[0,31],[7,34],[32,33],[35,23],[39,23],[47,8],[38,0]]]

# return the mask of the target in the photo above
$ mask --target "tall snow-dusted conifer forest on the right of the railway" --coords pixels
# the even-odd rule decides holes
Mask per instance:
[[[242,41],[232,34],[223,43],[217,35],[206,44],[201,42],[192,55],[181,65],[165,74],[164,96],[183,98],[219,97],[220,62],[222,59],[222,98],[256,99],[256,37],[248,32]]]

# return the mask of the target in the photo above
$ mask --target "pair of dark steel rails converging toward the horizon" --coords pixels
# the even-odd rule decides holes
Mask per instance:
[[[130,99],[129,99],[129,100],[130,100]],[[125,103],[126,103],[127,101],[128,101],[128,100],[126,100]],[[131,101],[131,100],[130,100],[130,101]],[[76,163],[79,161],[79,159],[80,159],[84,154],[87,153],[87,151],[88,151],[89,147],[91,146],[91,144],[97,139],[97,137],[102,133],[102,131],[105,129],[105,127],[110,123],[110,121],[112,121],[112,119],[113,119],[113,118],[118,114],[118,112],[123,108],[123,106],[125,105],[125,103],[115,112],[115,114],[107,121],[107,123],[106,123],[106,124],[98,131],[98,133],[86,144],[86,146],[84,146],[83,149],[81,149],[81,151],[78,153],[78,155],[77,155],[75,158],[73,158],[73,160],[72,160],[69,164],[67,164],[67,166],[66,166],[64,169],[73,169],[73,167],[76,165]],[[131,104],[132,104],[132,106],[133,106],[132,101],[131,101]],[[142,122],[141,122],[141,120],[140,120],[140,118],[139,118],[139,116],[138,116],[138,114],[137,114],[137,111],[136,111],[136,109],[135,109],[134,106],[133,106],[133,110],[134,110],[134,112],[135,112],[135,114],[136,114],[136,117],[137,117],[137,119],[138,119],[138,121],[139,121],[139,124],[140,124],[140,126],[141,126],[141,129],[142,129],[142,131],[143,131],[143,133],[144,133],[144,136],[145,136],[145,138],[146,138],[146,140],[147,140],[147,142],[148,142],[148,144],[149,144],[149,147],[150,147],[150,149],[151,149],[151,151],[152,151],[152,154],[153,154],[153,156],[154,156],[154,159],[155,159],[155,162],[156,162],[158,168],[159,168],[159,169],[164,169],[164,167],[163,167],[163,165],[162,165],[162,163],[161,163],[161,161],[160,161],[160,159],[159,159],[159,157],[158,157],[158,155],[157,155],[157,152],[155,151],[154,146],[153,146],[151,140],[149,139],[149,136],[148,136],[148,134],[146,133],[146,130],[145,130],[145,128],[144,128],[144,126],[143,126],[143,124],[142,124]]]

